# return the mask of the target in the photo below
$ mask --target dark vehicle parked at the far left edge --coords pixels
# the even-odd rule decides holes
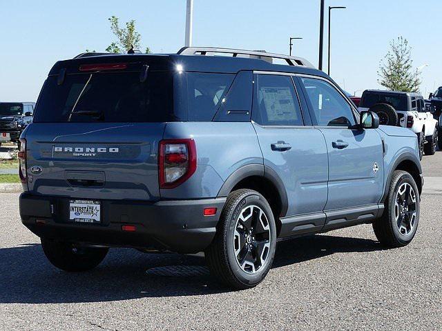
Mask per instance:
[[[24,128],[32,122],[34,102],[0,102],[0,146],[1,143],[19,138]]]

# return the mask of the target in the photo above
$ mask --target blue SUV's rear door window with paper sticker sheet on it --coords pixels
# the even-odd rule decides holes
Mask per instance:
[[[258,74],[253,120],[262,126],[303,126],[294,83],[289,76]]]

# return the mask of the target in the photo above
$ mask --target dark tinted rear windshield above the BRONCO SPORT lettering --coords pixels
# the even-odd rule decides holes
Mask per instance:
[[[149,72],[66,74],[46,80],[35,122],[163,122],[173,119],[173,75]]]

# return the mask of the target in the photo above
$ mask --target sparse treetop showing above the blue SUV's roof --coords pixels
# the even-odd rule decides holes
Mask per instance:
[[[108,20],[111,22],[111,30],[117,37],[117,42],[111,43],[106,48],[106,52],[125,53],[131,48],[140,48],[141,34],[135,30],[135,20],[131,19],[131,21],[126,22],[126,28],[119,26],[118,17],[113,16]],[[146,48],[146,53],[150,52],[149,48]]]

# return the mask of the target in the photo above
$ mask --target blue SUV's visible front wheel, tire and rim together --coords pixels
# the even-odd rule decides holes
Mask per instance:
[[[409,190],[410,188],[412,190]],[[407,199],[412,201],[413,196],[414,206],[407,204]],[[402,197],[405,197],[405,203]],[[406,210],[402,208],[403,205],[407,205]],[[374,234],[378,241],[389,248],[408,245],[413,240],[419,225],[420,208],[419,190],[412,175],[403,170],[396,170],[390,182],[383,215],[373,222]]]

